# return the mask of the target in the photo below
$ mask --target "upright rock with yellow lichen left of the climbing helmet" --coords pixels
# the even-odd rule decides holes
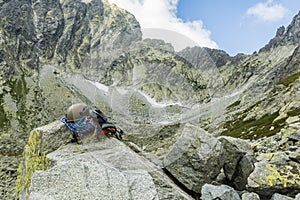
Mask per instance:
[[[31,131],[18,168],[17,196],[25,198],[30,193],[29,188],[34,172],[46,170],[50,165],[47,154],[65,144],[71,137],[72,134],[60,121]]]

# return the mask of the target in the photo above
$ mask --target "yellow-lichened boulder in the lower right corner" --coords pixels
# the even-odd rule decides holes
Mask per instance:
[[[267,198],[275,192],[290,195],[299,193],[299,163],[290,161],[285,153],[263,154],[258,159],[248,177],[248,190]]]

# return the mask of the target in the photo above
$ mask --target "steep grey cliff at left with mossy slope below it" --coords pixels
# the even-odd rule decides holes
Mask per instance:
[[[57,71],[97,76],[88,69],[140,40],[141,31],[133,15],[99,0],[1,1],[0,8],[1,195],[12,199],[29,130],[80,101]]]

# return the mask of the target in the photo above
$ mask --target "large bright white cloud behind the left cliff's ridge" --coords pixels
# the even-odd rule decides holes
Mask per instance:
[[[158,38],[172,43],[175,50],[187,46],[218,48],[210,31],[200,20],[184,22],[177,18],[179,0],[108,0],[131,12],[139,21],[143,38]]]

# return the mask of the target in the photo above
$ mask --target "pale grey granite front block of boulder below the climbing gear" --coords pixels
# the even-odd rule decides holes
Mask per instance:
[[[158,199],[152,177],[145,170],[120,170],[126,163],[118,169],[98,152],[53,154],[49,157],[55,166],[32,177],[29,199],[39,200],[41,195],[46,199]]]

